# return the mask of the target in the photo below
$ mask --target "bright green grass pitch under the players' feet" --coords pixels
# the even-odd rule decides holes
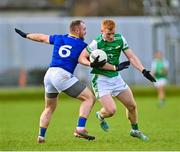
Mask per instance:
[[[19,92],[21,90],[17,91]],[[157,107],[156,96],[135,96],[139,127],[149,136],[148,142],[130,137],[130,125],[125,116],[125,109],[118,101],[117,113],[107,119],[110,125],[109,132],[102,131],[95,118],[95,112],[100,108],[100,104],[96,102],[86,126],[96,139],[86,141],[74,137],[73,131],[76,127],[80,103],[73,98],[60,96],[58,107],[46,133],[45,144],[36,142],[39,116],[44,107],[43,97],[1,99],[3,100],[0,100],[0,150],[180,150],[180,96],[167,97],[167,103],[163,108]]]

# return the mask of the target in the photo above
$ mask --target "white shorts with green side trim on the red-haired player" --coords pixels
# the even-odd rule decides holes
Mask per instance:
[[[119,93],[129,88],[120,75],[112,78],[103,75],[94,75],[92,86],[96,98],[101,98],[107,94],[117,96]]]

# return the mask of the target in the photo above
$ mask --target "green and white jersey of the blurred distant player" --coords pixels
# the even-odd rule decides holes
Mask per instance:
[[[164,59],[155,59],[151,65],[151,71],[154,73],[156,79],[165,78],[167,79],[167,70],[169,63]]]

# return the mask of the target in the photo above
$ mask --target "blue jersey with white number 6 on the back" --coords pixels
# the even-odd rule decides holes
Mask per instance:
[[[71,35],[50,35],[50,44],[54,45],[50,67],[61,67],[73,73],[78,64],[80,53],[87,44],[80,38]]]

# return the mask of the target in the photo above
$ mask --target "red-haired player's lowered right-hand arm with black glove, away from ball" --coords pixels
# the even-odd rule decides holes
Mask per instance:
[[[150,71],[144,68],[141,61],[138,59],[138,57],[133,53],[131,49],[125,50],[124,54],[127,56],[131,64],[140,72],[142,72],[145,78],[147,78],[151,82],[156,82],[156,79],[150,74]]]

